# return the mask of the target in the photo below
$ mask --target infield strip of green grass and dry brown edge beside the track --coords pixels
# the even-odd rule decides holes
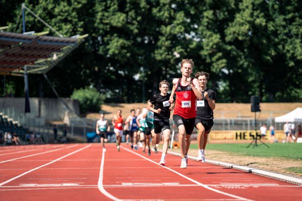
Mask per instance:
[[[253,148],[242,144],[207,144],[208,159],[238,165],[251,166],[282,174],[302,176],[302,144],[275,143],[269,148],[259,145]],[[191,154],[197,156],[197,144],[191,144]],[[189,151],[190,152],[190,151]]]

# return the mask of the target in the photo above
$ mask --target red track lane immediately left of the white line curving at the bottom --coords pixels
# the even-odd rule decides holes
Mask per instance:
[[[110,200],[97,186],[101,157],[101,146],[93,144],[1,186],[0,194],[14,200]]]

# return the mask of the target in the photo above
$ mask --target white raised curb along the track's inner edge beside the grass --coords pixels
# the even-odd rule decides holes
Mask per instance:
[[[173,154],[175,156],[181,156],[180,153],[173,152],[173,151],[168,151],[168,153]],[[195,156],[189,156],[188,155],[188,158],[192,159],[192,160],[197,160],[197,157],[195,157]],[[262,175],[262,176],[266,176],[266,177],[286,181],[286,182],[289,182],[289,183],[302,185],[302,179],[291,177],[291,176],[286,176],[286,175],[283,175],[283,174],[277,174],[277,173],[268,172],[268,171],[264,171],[264,170],[260,170],[260,169],[255,169],[255,168],[251,168],[251,167],[247,167],[247,166],[234,165],[234,164],[231,164],[231,163],[225,163],[225,162],[220,162],[220,161],[215,161],[215,160],[207,160],[206,159],[205,162],[210,163],[210,164],[214,164],[214,165],[220,165],[220,166],[230,167],[230,168],[234,168],[234,169],[239,169],[239,170],[243,170],[243,171],[246,171],[246,172],[251,172],[251,173],[254,173],[254,174],[259,174],[259,175]]]

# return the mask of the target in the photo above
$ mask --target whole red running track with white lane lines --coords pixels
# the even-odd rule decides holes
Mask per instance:
[[[0,147],[0,200],[302,200],[302,186],[114,144]]]

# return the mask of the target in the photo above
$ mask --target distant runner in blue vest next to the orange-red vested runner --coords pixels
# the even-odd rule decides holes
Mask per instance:
[[[136,124],[136,116],[135,116],[135,110],[132,109],[130,111],[130,115],[127,117],[125,124],[129,124],[128,130],[130,135],[130,141],[131,141],[131,149],[137,150],[137,131],[138,127]]]

